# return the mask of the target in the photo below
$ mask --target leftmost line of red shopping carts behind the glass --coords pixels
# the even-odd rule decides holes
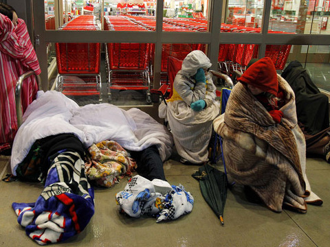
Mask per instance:
[[[94,16],[78,16],[66,23],[62,30],[97,30]],[[100,43],[56,43],[58,75],[56,90],[78,99],[102,101],[100,77]]]

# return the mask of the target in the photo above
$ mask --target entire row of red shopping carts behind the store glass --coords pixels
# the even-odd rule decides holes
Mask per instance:
[[[199,23],[199,27],[196,24]],[[163,28],[169,31],[202,30],[205,20],[164,19]],[[94,16],[78,16],[69,21],[63,30],[98,30]],[[104,30],[151,31],[155,30],[153,16],[104,16]],[[221,25],[223,32],[260,32],[254,27]],[[180,31],[181,32],[181,31]],[[153,80],[154,43],[107,43],[105,44],[107,68],[107,94],[112,100],[113,91],[143,91],[146,102],[151,103]],[[206,50],[205,44],[163,44],[162,82],[166,82],[168,57],[184,60],[190,51]],[[283,70],[291,45],[267,45],[265,56],[274,61],[276,69]],[[257,58],[259,45],[221,44],[219,46],[219,71],[232,75],[235,70],[243,72],[252,58]],[[56,89],[67,95],[101,95],[100,44],[56,43],[58,78]],[[94,78],[94,80],[91,80]],[[76,79],[76,80],[75,80]]]

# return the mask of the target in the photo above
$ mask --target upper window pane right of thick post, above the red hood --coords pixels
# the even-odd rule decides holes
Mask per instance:
[[[261,32],[263,1],[228,0],[221,32]]]

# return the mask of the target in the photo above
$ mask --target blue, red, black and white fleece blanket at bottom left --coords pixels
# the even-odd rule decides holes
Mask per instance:
[[[94,215],[94,189],[87,181],[80,154],[55,156],[36,202],[12,204],[19,224],[40,245],[63,242],[80,233]]]

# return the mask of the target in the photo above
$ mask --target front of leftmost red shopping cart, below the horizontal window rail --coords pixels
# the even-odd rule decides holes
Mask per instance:
[[[100,43],[55,43],[54,90],[80,106],[102,102]]]

